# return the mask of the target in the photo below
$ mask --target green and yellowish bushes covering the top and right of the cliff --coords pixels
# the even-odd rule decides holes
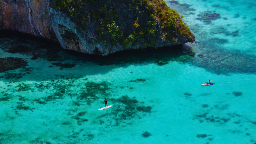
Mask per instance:
[[[94,29],[106,45],[155,46],[156,38],[174,42],[193,37],[190,29],[163,0],[50,0],[80,29]]]

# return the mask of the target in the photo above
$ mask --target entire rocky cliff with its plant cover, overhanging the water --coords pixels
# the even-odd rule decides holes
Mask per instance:
[[[51,7],[49,7],[49,3]],[[147,3],[147,1],[144,2],[144,4]],[[65,8],[58,7],[59,3],[49,2],[49,0],[0,0],[0,30],[8,29],[28,33],[57,41],[64,49],[98,55],[109,55],[125,49],[172,46],[195,41],[194,35],[185,26],[185,23],[183,24],[182,18],[177,17],[175,11],[168,10],[165,3],[158,5],[160,10],[155,9],[156,6],[151,6],[152,8],[149,8],[148,12],[146,10],[144,12],[142,9],[144,8],[143,4],[139,4],[139,7],[137,4],[129,1],[124,3],[119,0],[112,1],[112,3],[107,2],[104,5],[106,10],[108,6],[111,8],[113,8],[111,5],[115,6],[116,11],[111,13],[116,13],[118,16],[112,17],[114,20],[104,20],[106,16],[102,14],[99,14],[101,16],[97,19],[98,14],[93,13],[93,9],[92,12],[82,9],[80,11],[83,11],[83,17],[86,17],[82,20],[86,25],[82,25],[83,17],[76,18],[80,19],[80,23],[78,23],[72,20],[76,13],[68,13],[73,12],[72,7],[77,6],[77,3],[68,5],[66,8],[68,11],[65,11]],[[101,5],[90,5],[95,8],[95,11],[101,8]],[[135,6],[136,9],[132,9]],[[123,11],[124,9],[125,11]],[[157,17],[161,12],[167,11],[166,9],[168,10],[165,14],[167,15],[166,20]],[[77,12],[77,14],[80,13]],[[154,15],[152,16],[150,13]],[[127,18],[123,19],[122,14]],[[173,19],[168,19],[171,17],[170,14],[174,14]],[[108,22],[109,25],[104,25],[102,22]],[[173,27],[175,30],[171,29]],[[172,33],[171,38],[167,37],[170,35],[169,31]]]

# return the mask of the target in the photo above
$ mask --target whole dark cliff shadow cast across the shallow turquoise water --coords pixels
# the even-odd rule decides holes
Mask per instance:
[[[171,61],[193,60],[192,48],[186,44],[172,47],[131,49],[109,56],[83,54],[63,49],[59,43],[28,34],[4,30],[0,33],[0,58],[20,58],[0,69],[3,81],[44,81],[105,74],[130,65],[165,65]],[[19,61],[19,62],[17,62]],[[160,61],[160,62],[159,62]],[[1,62],[1,60],[0,60]],[[24,63],[27,65],[24,66]],[[19,65],[21,63],[23,65]],[[8,69],[12,67],[12,69]],[[98,68],[96,68],[98,67]]]

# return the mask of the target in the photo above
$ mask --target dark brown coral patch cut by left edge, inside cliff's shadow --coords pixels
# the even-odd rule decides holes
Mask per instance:
[[[27,66],[27,63],[28,62],[23,60],[22,58],[0,58],[0,73]]]

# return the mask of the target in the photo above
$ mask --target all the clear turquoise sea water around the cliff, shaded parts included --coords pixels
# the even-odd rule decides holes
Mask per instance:
[[[1,35],[0,58],[28,66],[0,73],[0,143],[256,143],[255,1],[178,2],[196,42],[173,49],[81,56]]]

